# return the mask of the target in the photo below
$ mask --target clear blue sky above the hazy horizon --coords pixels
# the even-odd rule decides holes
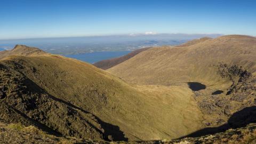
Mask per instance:
[[[256,1],[0,0],[0,39],[130,33],[256,35]]]

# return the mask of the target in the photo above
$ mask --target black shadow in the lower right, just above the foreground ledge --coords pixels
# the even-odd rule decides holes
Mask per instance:
[[[255,106],[247,107],[240,111],[237,111],[228,119],[228,122],[226,124],[223,124],[219,127],[209,127],[202,130],[198,130],[196,132],[193,132],[181,138],[201,137],[207,134],[215,134],[219,132],[224,132],[230,128],[236,129],[239,127],[245,127],[247,124],[250,124],[250,123],[256,123],[256,107]]]

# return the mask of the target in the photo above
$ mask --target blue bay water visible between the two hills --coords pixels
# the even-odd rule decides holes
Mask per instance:
[[[122,57],[123,55],[126,55],[130,53],[131,51],[105,51],[105,52],[91,52],[91,53],[83,53],[83,54],[67,54],[64,55],[68,58],[74,58],[77,60],[89,62],[89,63],[95,63],[101,60],[107,60],[117,57]]]

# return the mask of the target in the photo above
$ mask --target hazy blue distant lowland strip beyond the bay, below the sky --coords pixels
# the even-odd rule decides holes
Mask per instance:
[[[220,34],[129,34],[87,37],[58,37],[0,40],[0,47],[10,50],[15,45],[38,47],[54,54],[79,54],[100,51],[133,51],[143,47],[178,45],[201,37]]]

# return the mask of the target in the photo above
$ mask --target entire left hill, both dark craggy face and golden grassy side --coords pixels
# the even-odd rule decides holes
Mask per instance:
[[[171,139],[202,128],[202,113],[187,87],[130,85],[60,55],[22,53],[0,62],[5,121],[95,140]]]

